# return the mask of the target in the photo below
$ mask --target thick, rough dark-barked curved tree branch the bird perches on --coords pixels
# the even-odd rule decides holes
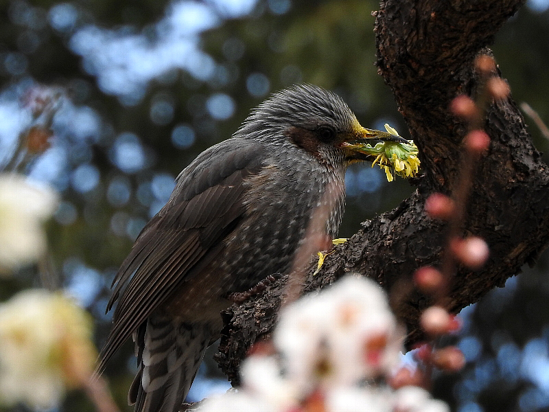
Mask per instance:
[[[408,343],[423,336],[421,311],[430,297],[411,286],[420,266],[440,266],[446,227],[425,216],[425,198],[450,194],[460,172],[460,145],[467,124],[449,111],[457,95],[475,97],[480,80],[474,59],[506,19],[524,1],[383,1],[376,13],[375,38],[379,74],[395,95],[399,111],[420,152],[423,176],[410,198],[336,247],[317,275],[309,267],[305,291],[317,290],[348,272],[381,284],[391,296],[399,319],[408,327]],[[549,241],[549,171],[526,131],[511,98],[492,102],[484,130],[491,137],[474,173],[463,236],[484,238],[489,262],[479,271],[459,266],[449,288],[452,312],[478,301],[489,290],[531,263]],[[255,341],[266,339],[277,319],[283,283],[235,305],[225,314],[217,361],[233,385],[238,367]]]

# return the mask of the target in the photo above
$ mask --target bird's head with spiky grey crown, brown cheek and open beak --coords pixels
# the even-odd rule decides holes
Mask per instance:
[[[408,143],[397,135],[360,126],[342,98],[312,84],[274,93],[252,111],[239,133],[263,141],[294,144],[314,157],[344,166],[375,159],[356,150],[355,143]]]

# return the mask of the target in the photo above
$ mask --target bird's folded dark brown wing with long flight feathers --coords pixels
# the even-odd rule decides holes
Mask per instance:
[[[246,209],[243,182],[264,158],[259,145],[229,139],[180,173],[170,201],[145,225],[113,280],[107,310],[121,297],[99,370],[235,228]]]

